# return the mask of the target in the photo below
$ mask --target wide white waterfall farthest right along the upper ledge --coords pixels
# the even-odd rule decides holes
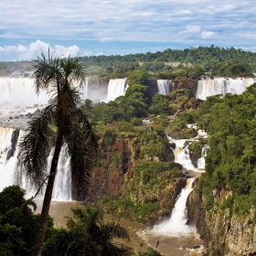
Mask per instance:
[[[216,78],[214,80],[199,80],[197,83],[197,98],[206,100],[208,96],[225,95],[226,93],[241,94],[254,83],[255,79],[228,79]]]

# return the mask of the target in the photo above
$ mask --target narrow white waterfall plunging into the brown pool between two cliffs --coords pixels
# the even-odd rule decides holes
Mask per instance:
[[[159,225],[155,225],[152,232],[155,235],[163,235],[170,237],[180,237],[189,233],[195,233],[196,228],[188,226],[187,224],[187,208],[186,202],[189,193],[193,190],[193,182],[195,178],[187,179],[187,186],[184,187],[180,195],[176,198],[176,205],[172,211],[171,218],[162,222]]]

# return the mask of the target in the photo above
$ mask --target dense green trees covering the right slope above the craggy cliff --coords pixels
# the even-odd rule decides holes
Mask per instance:
[[[212,191],[232,191],[222,208],[244,213],[255,205],[256,178],[256,94],[254,85],[242,95],[209,97],[199,109],[199,125],[210,135],[206,157],[206,174],[197,185],[197,192],[213,205]],[[199,145],[194,145],[199,151]]]

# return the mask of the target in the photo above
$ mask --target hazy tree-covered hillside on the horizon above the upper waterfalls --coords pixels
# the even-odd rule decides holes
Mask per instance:
[[[167,72],[199,64],[206,71],[219,69],[217,65],[222,62],[235,61],[250,65],[251,70],[256,72],[256,53],[236,48],[198,47],[183,50],[167,48],[155,53],[116,55],[116,56],[91,56],[81,57],[86,62],[91,75],[99,75],[105,79],[123,77],[127,72],[142,68],[150,72]],[[8,76],[14,71],[31,70],[29,61],[0,62],[0,76]],[[224,74],[226,75],[226,74]],[[176,75],[180,76],[180,74]]]

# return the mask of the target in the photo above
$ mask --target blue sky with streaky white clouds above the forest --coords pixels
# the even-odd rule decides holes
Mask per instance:
[[[255,0],[1,0],[0,61],[209,47],[256,51]]]

